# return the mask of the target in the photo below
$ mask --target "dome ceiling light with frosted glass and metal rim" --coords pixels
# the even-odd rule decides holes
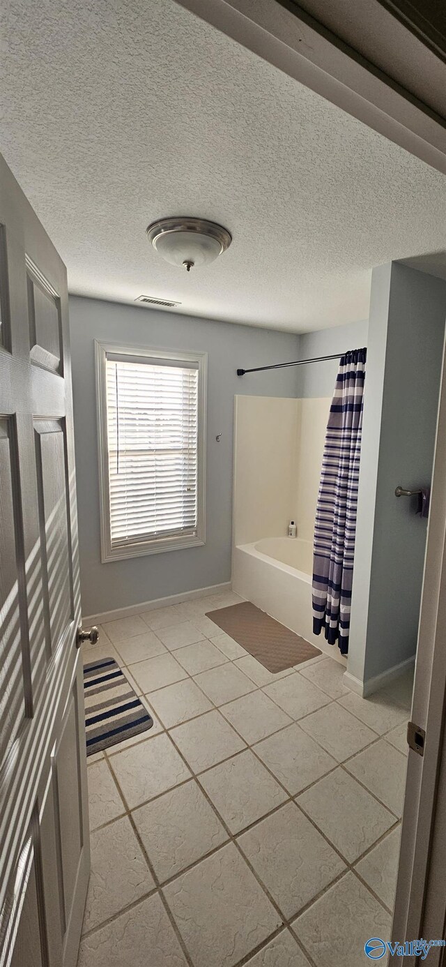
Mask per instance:
[[[186,272],[197,265],[209,265],[232,242],[229,231],[222,225],[194,218],[153,221],[146,235],[166,262],[180,265]]]

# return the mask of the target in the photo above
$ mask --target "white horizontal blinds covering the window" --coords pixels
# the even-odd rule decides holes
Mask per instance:
[[[197,533],[198,366],[106,359],[112,546]]]

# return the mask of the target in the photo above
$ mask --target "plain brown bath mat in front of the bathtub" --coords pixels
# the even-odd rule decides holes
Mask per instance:
[[[321,655],[319,648],[280,625],[251,601],[209,611],[207,618],[272,673]]]

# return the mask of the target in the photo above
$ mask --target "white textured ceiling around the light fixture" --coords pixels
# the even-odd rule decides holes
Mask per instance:
[[[371,269],[446,249],[444,176],[174,0],[10,0],[0,147],[70,291],[304,332],[365,318]],[[183,273],[150,221],[220,221]]]

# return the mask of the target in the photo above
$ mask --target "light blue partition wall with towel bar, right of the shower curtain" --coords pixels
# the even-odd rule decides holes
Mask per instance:
[[[374,269],[347,676],[361,694],[416,652],[427,522],[395,487],[431,483],[445,318],[446,282]]]

